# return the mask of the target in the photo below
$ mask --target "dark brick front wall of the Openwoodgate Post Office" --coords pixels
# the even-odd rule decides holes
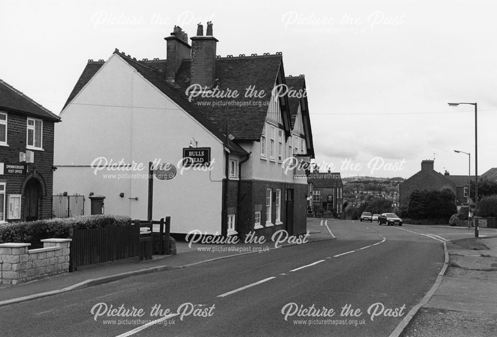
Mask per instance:
[[[0,162],[18,163],[19,152],[26,151],[27,116],[7,113],[7,143],[8,147],[1,148]],[[34,152],[34,163],[27,164],[26,176],[0,176],[1,182],[6,182],[6,195],[23,194],[23,187],[27,181],[35,177],[41,182],[42,195],[40,196],[38,216],[39,218],[50,218],[52,216],[52,191],[53,191],[53,171],[54,163],[54,123],[43,121],[42,150],[32,150]],[[21,202],[21,218],[6,221],[22,221],[24,214],[25,200]]]

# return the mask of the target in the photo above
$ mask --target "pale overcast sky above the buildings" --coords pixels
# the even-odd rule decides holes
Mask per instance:
[[[88,59],[115,48],[165,59],[174,25],[191,37],[211,20],[218,55],[282,52],[287,76],[305,74],[318,164],[409,178],[435,158],[435,170],[467,175],[457,149],[471,152],[474,174],[474,107],[447,102],[478,102],[481,174],[497,167],[496,9],[490,0],[2,0],[0,78],[59,114]],[[361,169],[340,170],[345,160]]]

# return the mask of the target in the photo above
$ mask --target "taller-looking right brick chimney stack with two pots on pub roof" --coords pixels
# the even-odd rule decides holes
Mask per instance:
[[[204,35],[203,25],[197,26],[197,36],[191,37],[190,84],[200,84],[212,88],[216,79],[216,44],[218,39],[212,36],[212,22],[207,22]]]

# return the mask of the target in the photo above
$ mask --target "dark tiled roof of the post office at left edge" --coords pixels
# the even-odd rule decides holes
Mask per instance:
[[[10,110],[59,122],[60,117],[0,79],[0,110]]]

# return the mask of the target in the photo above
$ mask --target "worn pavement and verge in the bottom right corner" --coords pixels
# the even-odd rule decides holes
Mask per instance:
[[[448,268],[403,337],[497,336],[497,236],[447,242]]]

